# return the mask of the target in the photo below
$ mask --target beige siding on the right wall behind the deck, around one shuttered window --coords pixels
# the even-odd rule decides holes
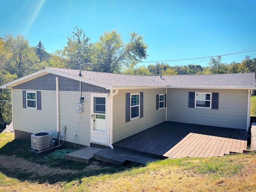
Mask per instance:
[[[167,120],[246,129],[248,90],[168,89]],[[218,110],[188,108],[188,92],[218,92]]]

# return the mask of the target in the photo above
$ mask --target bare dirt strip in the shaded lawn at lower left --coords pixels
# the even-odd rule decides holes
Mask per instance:
[[[49,182],[69,181],[70,177],[81,175],[90,175],[97,171],[102,171],[103,166],[99,164],[84,164],[83,168],[69,169],[50,167],[46,164],[37,164],[24,158],[16,156],[0,155],[0,170],[8,177],[18,178],[20,180],[29,180],[32,182]]]

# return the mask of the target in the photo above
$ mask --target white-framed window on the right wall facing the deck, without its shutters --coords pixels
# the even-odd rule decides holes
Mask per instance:
[[[197,108],[212,108],[212,93],[197,93],[195,94],[195,107]]]

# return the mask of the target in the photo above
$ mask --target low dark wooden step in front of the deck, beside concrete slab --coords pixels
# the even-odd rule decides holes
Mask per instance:
[[[118,148],[111,149],[109,147],[95,153],[94,159],[118,166],[124,166],[128,163],[146,164],[148,162],[159,160],[159,158],[150,157],[130,150],[121,150]]]

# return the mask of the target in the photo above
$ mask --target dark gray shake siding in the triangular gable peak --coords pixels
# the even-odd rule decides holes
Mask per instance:
[[[79,91],[79,81],[69,79],[66,77],[59,77],[59,90],[60,91]],[[92,84],[84,83],[81,84],[82,91],[84,92],[100,92],[109,93],[110,90],[95,86]],[[30,89],[30,90],[56,90],[56,75],[46,74],[30,81],[21,83],[14,86],[13,89]]]

